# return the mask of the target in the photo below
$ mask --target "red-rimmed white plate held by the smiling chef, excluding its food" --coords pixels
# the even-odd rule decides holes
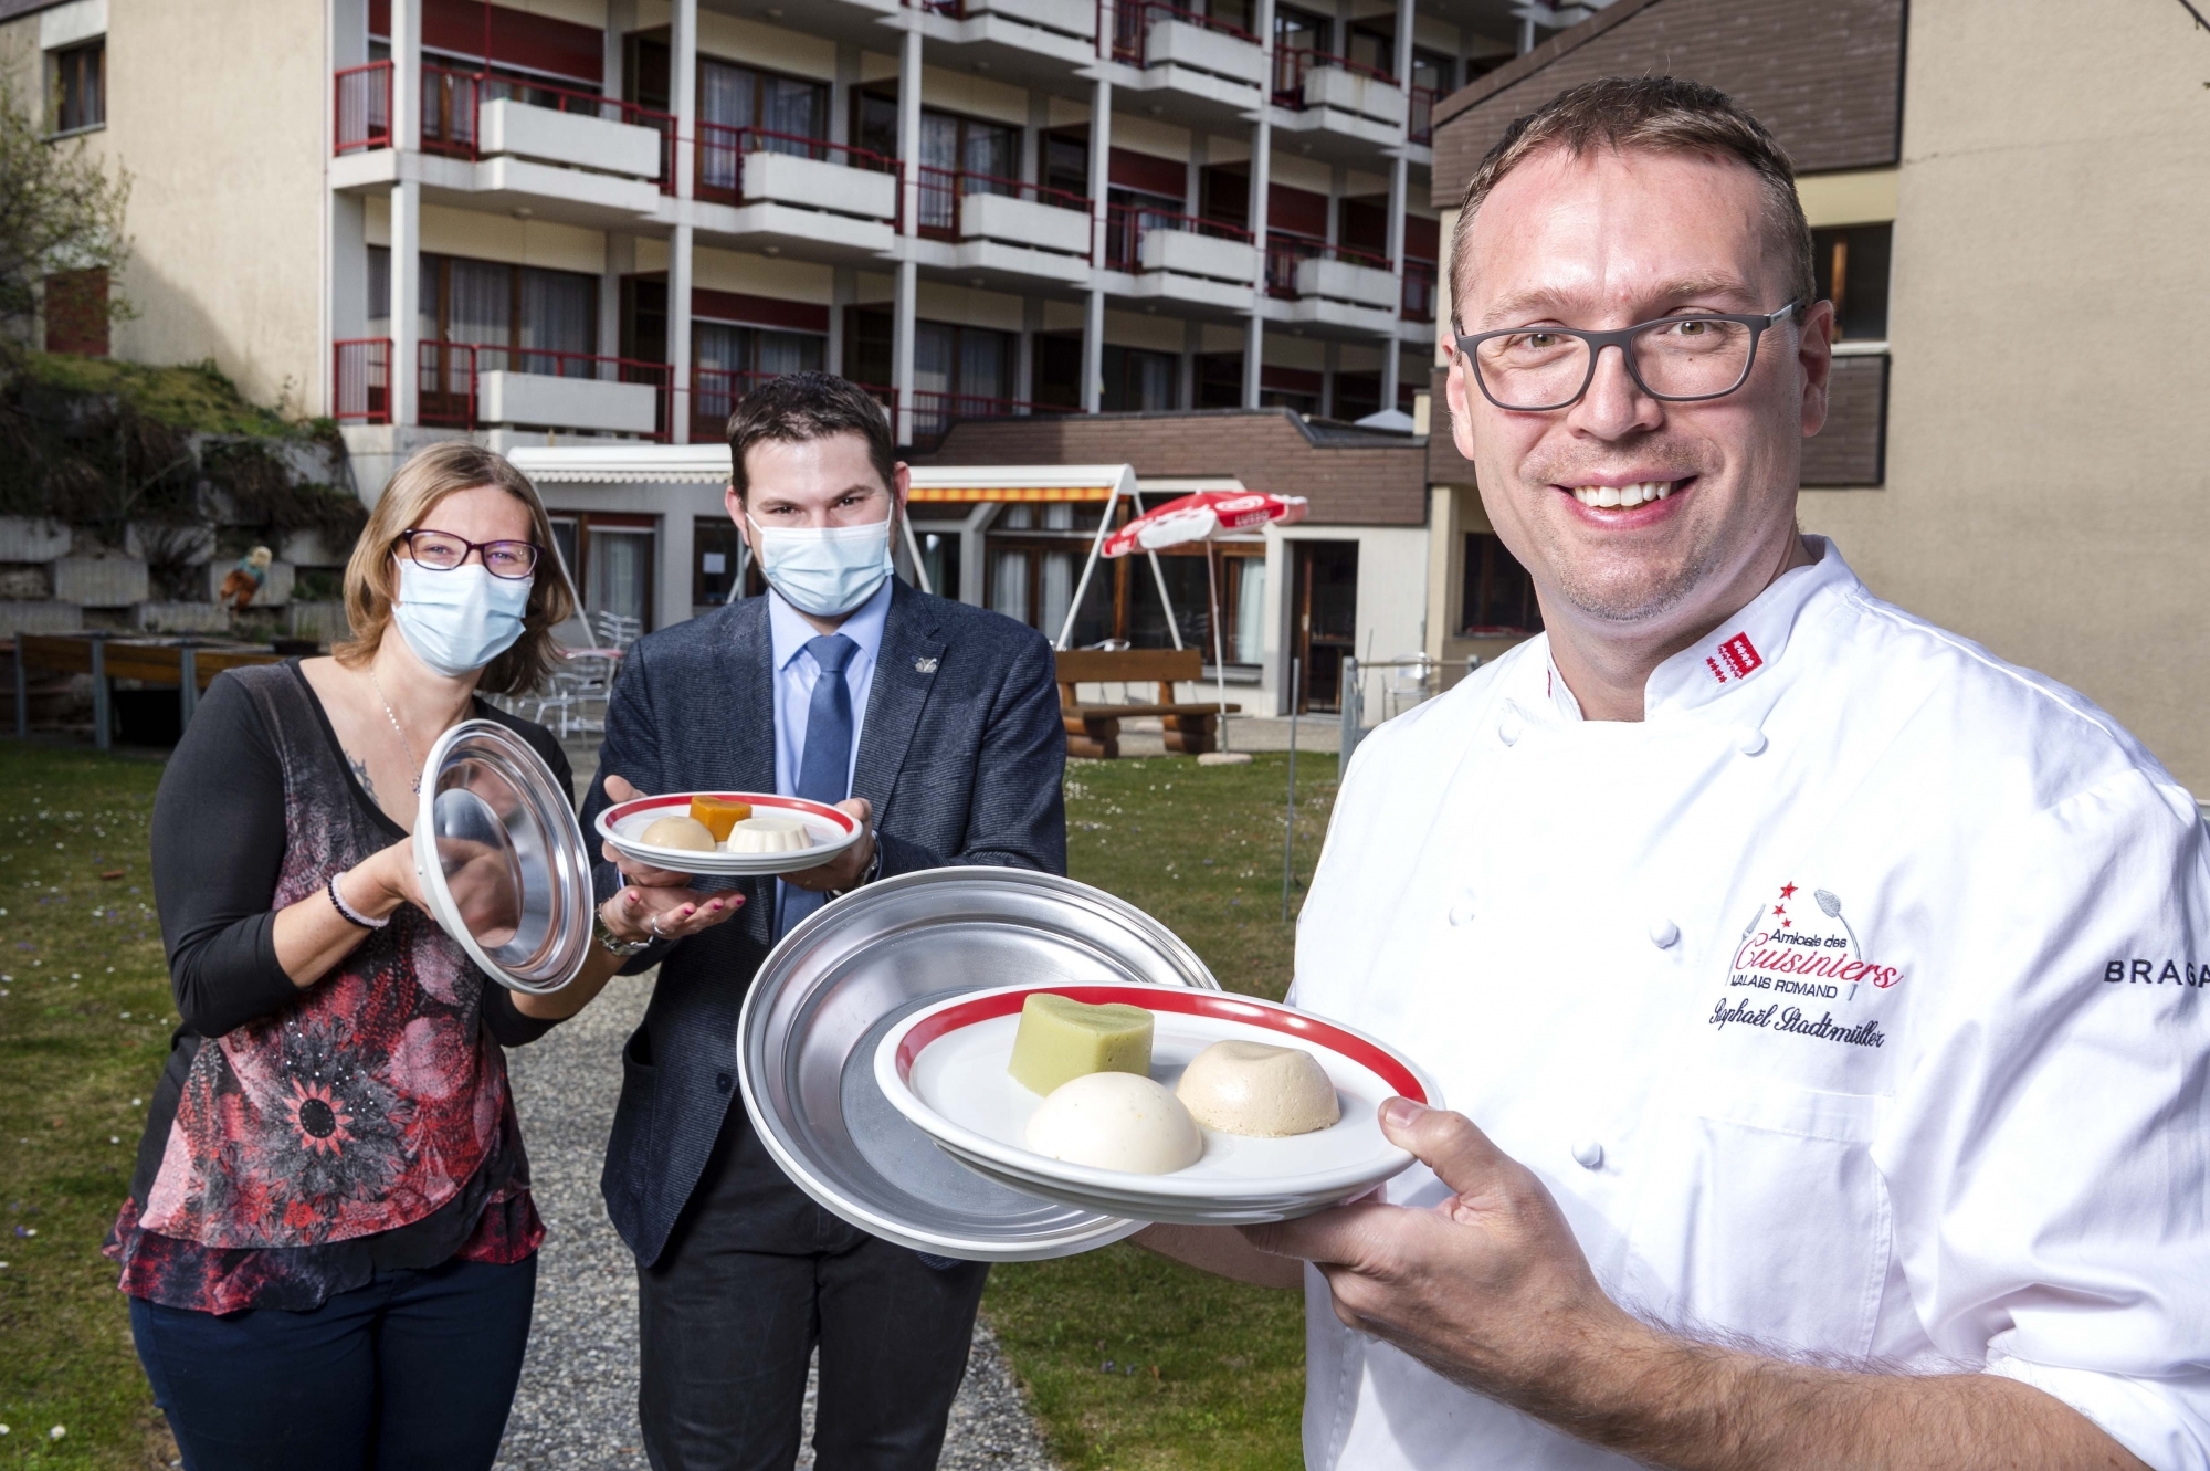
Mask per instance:
[[[1302,1047],[1335,1084],[1341,1118],[1286,1140],[1204,1129],[1204,1155],[1167,1175],[1039,1155],[1023,1135],[1043,1098],[1006,1071],[1021,1005],[1039,992],[1151,1012],[1151,1078],[1167,1089],[1213,1043]],[[988,1179],[1085,1210],[1189,1226],[1286,1221],[1357,1199],[1412,1164],[1383,1137],[1379,1107],[1399,1093],[1441,1107],[1419,1065],[1361,1031],[1273,1001],[1154,985],[1008,985],[953,996],[884,1034],[875,1082],[944,1153]]]

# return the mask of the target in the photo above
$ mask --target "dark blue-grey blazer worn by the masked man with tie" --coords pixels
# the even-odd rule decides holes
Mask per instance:
[[[639,791],[774,791],[776,700],[767,599],[745,599],[630,647],[606,711],[583,830],[606,775]],[[875,804],[882,875],[946,864],[1067,870],[1065,736],[1052,647],[1023,623],[897,583],[860,724],[851,793]],[[590,837],[597,853],[597,837]],[[597,870],[601,901],[621,886]],[[705,888],[709,881],[701,881]],[[729,888],[732,881],[712,881]],[[745,908],[714,930],[654,945],[643,1025],[621,1054],[621,1104],[599,1188],[621,1239],[652,1266],[698,1184],[736,1093],[736,1016],[774,943],[771,879],[734,881]],[[729,1120],[751,1135],[743,1107]],[[747,1206],[718,1239],[807,1250],[818,1208],[756,1140],[740,1140]]]

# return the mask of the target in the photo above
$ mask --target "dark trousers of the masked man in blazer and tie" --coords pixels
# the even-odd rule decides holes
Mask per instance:
[[[820,1347],[818,1471],[930,1471],[990,1268],[926,1266],[820,1210],[729,1113],[636,1274],[645,1456],[654,1471],[789,1471]]]

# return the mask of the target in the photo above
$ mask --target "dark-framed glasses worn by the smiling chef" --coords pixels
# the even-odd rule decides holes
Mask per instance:
[[[1569,409],[1596,382],[1596,360],[1618,347],[1635,387],[1669,404],[1726,398],[1750,378],[1757,338],[1801,307],[1779,311],[1697,311],[1662,316],[1616,331],[1578,327],[1505,327],[1459,334],[1481,395],[1509,413]]]

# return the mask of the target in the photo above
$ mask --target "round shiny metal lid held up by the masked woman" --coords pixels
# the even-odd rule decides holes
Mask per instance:
[[[590,954],[590,850],[570,793],[526,740],[462,720],[422,764],[413,853],[431,919],[486,976],[557,992]]]

